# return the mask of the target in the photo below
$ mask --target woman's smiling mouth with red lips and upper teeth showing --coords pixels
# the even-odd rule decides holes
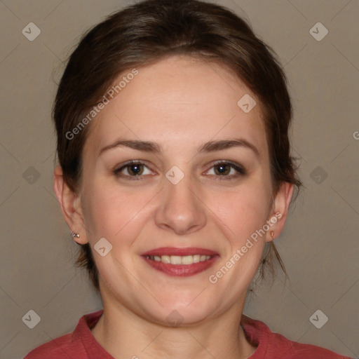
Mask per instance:
[[[142,254],[157,271],[168,276],[194,276],[210,268],[219,255],[205,248],[157,248]]]

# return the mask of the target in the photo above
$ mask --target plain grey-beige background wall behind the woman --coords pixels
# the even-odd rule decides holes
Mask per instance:
[[[0,0],[0,358],[22,358],[101,308],[74,268],[76,245],[53,192],[50,109],[79,36],[132,2]],[[358,357],[359,1],[217,3],[244,11],[285,65],[306,187],[276,240],[290,282],[263,283],[245,313],[294,341]],[[41,29],[34,41],[22,34],[29,22]],[[309,32],[317,22],[329,30],[321,41]],[[41,317],[34,329],[22,322],[30,309]],[[309,320],[318,309],[329,318],[321,329]]]

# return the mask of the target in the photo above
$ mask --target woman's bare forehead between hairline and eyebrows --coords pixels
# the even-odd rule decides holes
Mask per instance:
[[[118,137],[178,147],[245,137],[266,151],[259,101],[224,65],[175,56],[127,76],[131,71],[118,76],[114,85],[121,83],[121,90],[90,123],[86,145],[92,151]],[[238,101],[248,95],[257,104],[245,113]]]

